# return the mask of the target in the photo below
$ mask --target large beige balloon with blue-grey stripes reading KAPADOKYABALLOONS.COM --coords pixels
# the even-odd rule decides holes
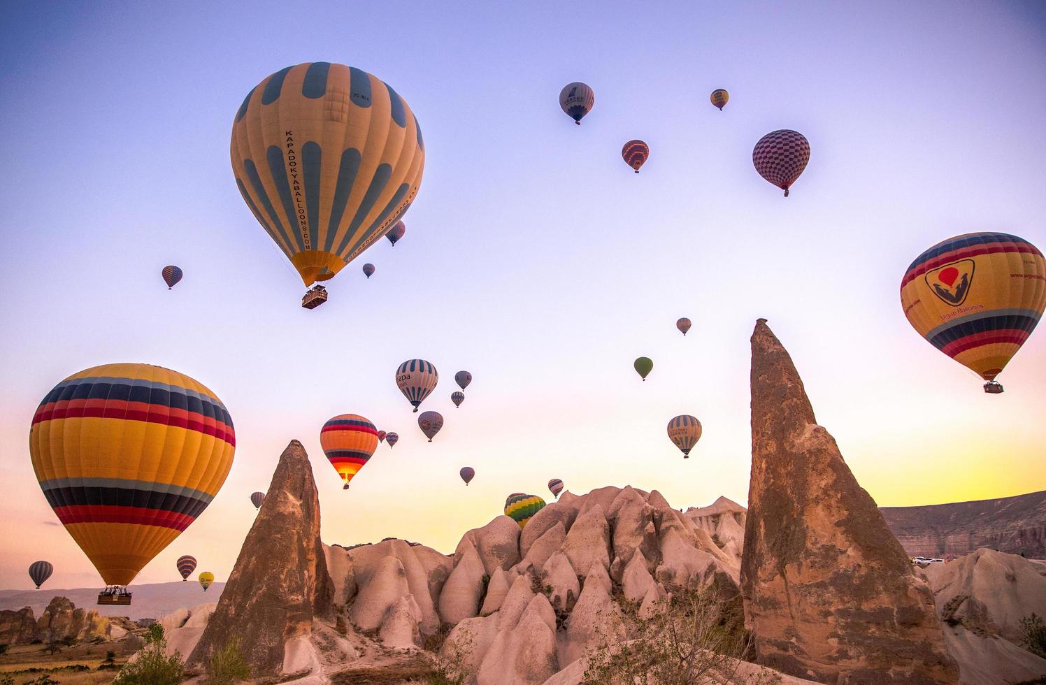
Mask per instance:
[[[232,124],[244,201],[305,286],[332,278],[395,225],[422,183],[425,144],[406,100],[354,67],[287,67]]]

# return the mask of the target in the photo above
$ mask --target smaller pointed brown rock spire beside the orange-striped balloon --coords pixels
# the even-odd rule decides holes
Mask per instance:
[[[313,618],[329,609],[333,592],[312,466],[292,440],[189,662],[205,661],[236,637],[255,677],[294,670]]]

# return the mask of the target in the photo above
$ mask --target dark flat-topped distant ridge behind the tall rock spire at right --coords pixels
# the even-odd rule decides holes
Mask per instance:
[[[978,547],[1046,558],[1046,490],[997,500],[880,507],[912,556],[962,555]]]

